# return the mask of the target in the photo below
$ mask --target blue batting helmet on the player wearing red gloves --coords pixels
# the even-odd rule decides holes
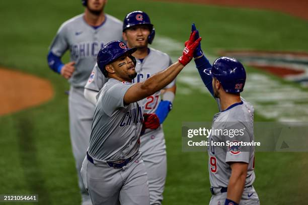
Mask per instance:
[[[111,41],[107,43],[97,54],[97,65],[104,76],[108,77],[108,72],[106,71],[105,66],[125,54],[129,54],[129,57],[136,66],[136,59],[131,55],[136,50],[136,48],[128,48],[122,41]]]

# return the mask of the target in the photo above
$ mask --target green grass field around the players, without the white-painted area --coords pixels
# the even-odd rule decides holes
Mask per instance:
[[[304,43],[308,22],[281,13],[124,0],[109,1],[106,7],[107,13],[121,20],[133,10],[147,12],[159,35],[180,42],[196,23],[208,54],[220,48],[308,51]],[[39,204],[80,203],[64,94],[69,85],[50,71],[46,54],[61,23],[82,12],[80,2],[73,0],[0,2],[0,65],[49,79],[55,90],[47,104],[0,117],[0,194],[39,194]],[[183,88],[179,83],[178,90]],[[164,124],[168,152],[164,204],[207,204],[210,198],[207,153],[181,150],[182,122],[211,121],[217,113],[211,97],[193,90],[189,95],[177,94]],[[257,113],[255,120],[265,119]],[[306,201],[307,156],[256,153],[255,187],[262,204]]]

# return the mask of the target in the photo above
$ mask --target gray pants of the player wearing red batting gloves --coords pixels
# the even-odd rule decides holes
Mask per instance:
[[[148,205],[147,174],[141,153],[120,169],[106,162],[91,163],[87,157],[81,170],[93,205]]]

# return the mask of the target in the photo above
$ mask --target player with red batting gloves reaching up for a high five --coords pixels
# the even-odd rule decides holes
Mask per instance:
[[[189,41],[178,62],[143,82],[137,76],[136,48],[112,41],[100,50],[97,61],[108,81],[100,90],[82,176],[93,204],[149,204],[146,169],[139,152],[144,129],[160,126],[156,114],[144,114],[142,99],[170,84],[190,62],[201,38]]]

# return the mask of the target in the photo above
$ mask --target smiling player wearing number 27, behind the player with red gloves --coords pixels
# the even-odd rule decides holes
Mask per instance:
[[[143,82],[153,74],[165,70],[172,62],[170,57],[161,51],[148,48],[155,37],[155,30],[148,15],[141,11],[134,11],[124,18],[123,39],[129,48],[137,48],[132,55],[136,59],[135,70],[137,76],[132,82]],[[96,65],[85,86],[85,97],[96,104],[96,95],[107,81]],[[163,124],[171,110],[175,96],[175,80],[163,89],[146,97],[142,101],[144,113],[156,113],[160,124]],[[161,99],[162,98],[162,99]],[[167,174],[166,144],[163,127],[146,129],[140,137],[142,158],[147,170],[149,182],[150,204],[161,204]]]

